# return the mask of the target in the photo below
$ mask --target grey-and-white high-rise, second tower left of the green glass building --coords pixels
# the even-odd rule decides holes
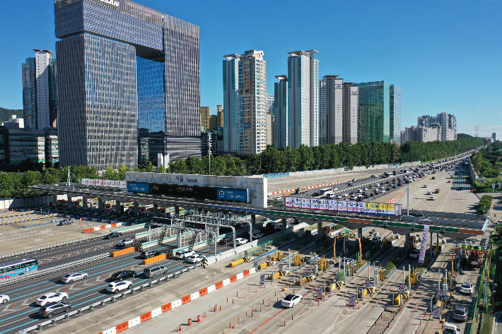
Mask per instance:
[[[343,141],[344,79],[324,76],[319,81],[319,145]]]

